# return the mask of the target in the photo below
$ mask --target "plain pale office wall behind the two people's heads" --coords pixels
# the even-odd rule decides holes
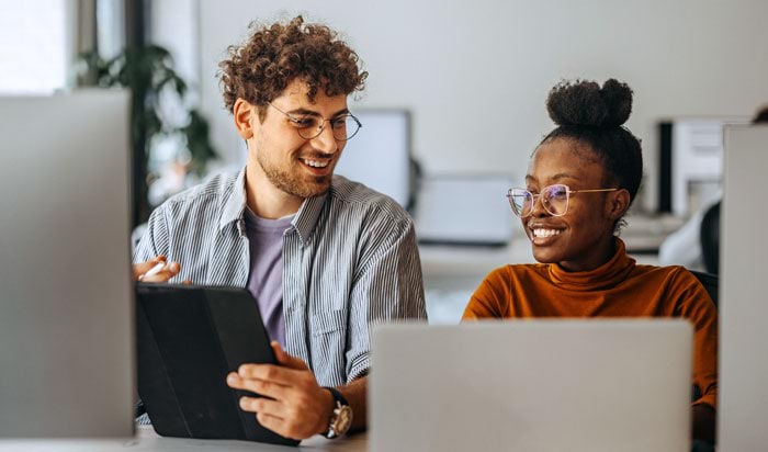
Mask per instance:
[[[654,206],[657,120],[752,115],[768,102],[760,0],[222,0],[200,9],[202,106],[230,162],[245,150],[222,108],[217,63],[251,20],[297,12],[358,49],[370,78],[357,104],[413,110],[427,173],[520,178],[552,126],[549,89],[563,77],[615,77],[636,93],[628,126],[643,139],[644,200]]]

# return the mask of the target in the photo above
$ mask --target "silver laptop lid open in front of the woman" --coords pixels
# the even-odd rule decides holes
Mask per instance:
[[[692,330],[675,319],[384,325],[373,452],[687,452]]]

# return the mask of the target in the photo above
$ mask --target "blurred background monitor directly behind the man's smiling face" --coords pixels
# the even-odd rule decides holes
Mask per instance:
[[[362,128],[347,143],[336,173],[392,196],[413,201],[410,114],[397,109],[353,109]]]

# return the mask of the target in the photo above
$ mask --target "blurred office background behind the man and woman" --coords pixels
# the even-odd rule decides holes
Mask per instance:
[[[648,263],[719,196],[723,124],[768,102],[761,0],[0,0],[0,94],[129,88],[139,226],[171,194],[245,163],[217,65],[252,21],[297,14],[341,32],[370,72],[342,162],[377,160],[339,171],[414,214],[438,320],[455,320],[494,267],[532,259],[504,195],[553,127],[544,101],[557,81],[634,89],[626,126],[645,179],[622,236]]]

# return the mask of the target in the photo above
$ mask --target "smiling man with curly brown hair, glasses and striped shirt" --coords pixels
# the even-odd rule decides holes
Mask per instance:
[[[334,176],[361,126],[347,105],[368,77],[358,55],[301,16],[251,30],[219,65],[247,166],[159,206],[134,273],[248,287],[281,365],[244,364],[227,384],[267,396],[240,399],[262,426],[334,438],[350,417],[366,426],[370,327],[426,319],[414,225],[389,197]]]

